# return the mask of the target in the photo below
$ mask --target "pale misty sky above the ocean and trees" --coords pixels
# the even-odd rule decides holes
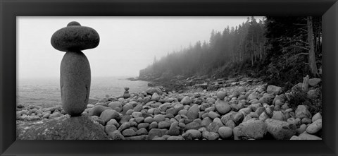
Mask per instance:
[[[208,42],[211,30],[223,31],[247,17],[18,17],[18,78],[58,78],[65,52],[51,46],[51,35],[70,21],[94,28],[99,46],[82,52],[94,76],[138,76],[162,56]],[[261,19],[261,17],[255,17]]]

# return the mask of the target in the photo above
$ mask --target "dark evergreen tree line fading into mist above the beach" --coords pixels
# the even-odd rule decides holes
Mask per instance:
[[[155,58],[139,78],[243,75],[292,85],[306,75],[320,76],[321,35],[320,17],[248,17],[223,32],[212,30],[208,42]]]

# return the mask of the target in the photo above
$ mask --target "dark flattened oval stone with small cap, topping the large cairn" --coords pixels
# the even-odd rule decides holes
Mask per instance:
[[[51,36],[51,45],[62,52],[92,49],[97,47],[99,42],[100,37],[96,30],[81,26],[75,21]]]

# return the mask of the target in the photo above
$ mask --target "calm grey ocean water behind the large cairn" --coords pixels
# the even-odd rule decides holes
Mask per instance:
[[[148,82],[130,81],[129,77],[92,77],[89,98],[101,99],[110,95],[123,95],[125,87],[129,92],[142,92],[148,87]],[[61,104],[59,78],[19,78],[17,81],[17,104],[35,104],[51,107]]]

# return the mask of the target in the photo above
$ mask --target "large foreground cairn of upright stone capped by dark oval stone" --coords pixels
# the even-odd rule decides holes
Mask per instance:
[[[70,116],[80,116],[87,108],[90,90],[90,66],[81,52],[99,45],[96,30],[81,26],[75,21],[54,32],[51,45],[66,52],[61,61],[61,101],[63,110]]]

